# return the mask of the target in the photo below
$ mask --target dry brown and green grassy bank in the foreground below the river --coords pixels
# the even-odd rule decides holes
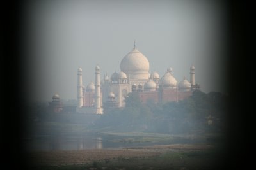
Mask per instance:
[[[212,145],[157,145],[116,150],[28,153],[33,169],[220,169]]]

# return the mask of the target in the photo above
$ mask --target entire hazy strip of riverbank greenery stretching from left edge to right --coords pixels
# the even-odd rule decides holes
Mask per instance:
[[[153,132],[168,134],[195,134],[223,132],[228,111],[228,96],[220,92],[205,94],[199,90],[179,102],[141,103],[138,94],[130,93],[125,108],[104,110],[104,115],[83,113],[54,113],[47,103],[33,103],[24,115],[24,125],[42,129],[44,122],[80,124],[95,131]],[[29,111],[30,110],[30,111]],[[28,129],[34,131],[29,126]]]

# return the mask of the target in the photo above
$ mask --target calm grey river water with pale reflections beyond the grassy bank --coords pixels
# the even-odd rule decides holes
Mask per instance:
[[[102,148],[131,148],[150,145],[166,145],[177,143],[177,141],[162,141],[162,142],[133,142],[123,139],[133,139],[131,136],[115,136],[99,133],[87,133],[81,135],[54,135],[54,136],[33,136],[24,138],[24,146],[27,150],[85,150],[85,149],[102,149]],[[136,137],[135,137],[136,138]],[[186,143],[188,141],[179,141]]]

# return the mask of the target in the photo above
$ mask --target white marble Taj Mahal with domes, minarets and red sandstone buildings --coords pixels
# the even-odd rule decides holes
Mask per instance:
[[[190,67],[190,81],[184,78],[179,83],[173,75],[173,69],[166,69],[161,76],[154,71],[149,73],[147,57],[135,46],[120,63],[120,73],[111,77],[104,75],[100,80],[100,67],[95,67],[95,82],[83,85],[82,69],[77,70],[77,108],[78,113],[103,114],[109,108],[125,107],[125,98],[129,93],[137,93],[140,101],[154,103],[179,101],[191,96],[200,87],[195,83],[195,67]]]

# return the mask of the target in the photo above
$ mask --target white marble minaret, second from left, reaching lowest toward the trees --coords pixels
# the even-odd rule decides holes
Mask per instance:
[[[95,113],[102,114],[103,110],[100,106],[100,67],[95,67]]]

